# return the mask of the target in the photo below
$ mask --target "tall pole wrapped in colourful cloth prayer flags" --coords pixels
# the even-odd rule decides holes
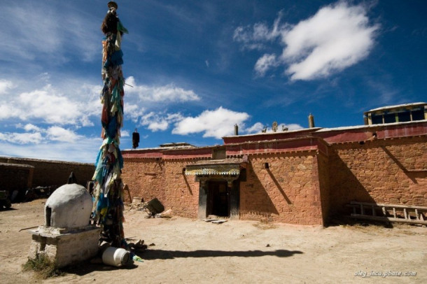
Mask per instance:
[[[123,126],[123,52],[120,48],[123,33],[127,29],[121,24],[116,7],[109,11],[102,23],[105,35],[102,41],[102,80],[104,87],[100,94],[103,104],[101,114],[102,145],[95,162],[94,205],[92,218],[102,227],[100,241],[107,241],[116,248],[126,248],[123,232],[123,188],[120,178],[123,156],[120,152],[120,128]]]

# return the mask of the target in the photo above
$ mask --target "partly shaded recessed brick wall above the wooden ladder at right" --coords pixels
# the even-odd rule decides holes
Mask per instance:
[[[427,206],[426,138],[332,145],[330,202],[335,213],[350,201]]]

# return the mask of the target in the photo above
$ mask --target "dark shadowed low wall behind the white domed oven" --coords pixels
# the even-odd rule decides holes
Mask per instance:
[[[0,157],[0,162],[6,164],[26,164],[34,166],[32,186],[64,185],[67,183],[71,171],[80,185],[86,186],[88,180],[92,180],[94,173],[93,164],[76,162],[61,162],[42,159],[25,159]]]

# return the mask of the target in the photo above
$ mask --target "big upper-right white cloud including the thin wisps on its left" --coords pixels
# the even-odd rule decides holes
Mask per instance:
[[[339,1],[325,6],[295,25],[280,24],[281,15],[272,29],[254,24],[235,29],[235,41],[245,46],[261,46],[279,38],[283,45],[280,56],[263,55],[255,64],[258,75],[280,65],[286,66],[290,80],[313,80],[330,76],[367,57],[374,45],[379,24],[370,25],[367,8],[362,4],[349,6]]]

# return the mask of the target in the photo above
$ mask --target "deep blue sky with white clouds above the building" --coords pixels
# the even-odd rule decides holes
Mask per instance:
[[[94,162],[102,144],[100,25],[108,1],[2,0],[0,155]],[[120,148],[363,125],[427,101],[427,1],[117,1]],[[280,128],[281,129],[281,128]]]

